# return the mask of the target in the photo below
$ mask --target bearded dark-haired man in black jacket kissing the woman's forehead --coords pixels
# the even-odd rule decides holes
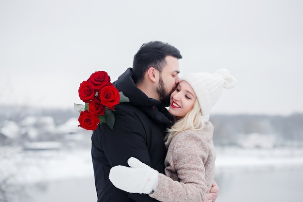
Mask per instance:
[[[143,44],[128,68],[114,85],[130,102],[117,105],[115,125],[99,124],[93,132],[91,155],[98,202],[155,202],[147,194],[124,192],[108,179],[116,165],[127,166],[136,157],[153,169],[164,173],[166,148],[164,136],[173,118],[165,108],[169,95],[179,83],[180,51],[163,42]],[[217,197],[210,194],[213,200]]]

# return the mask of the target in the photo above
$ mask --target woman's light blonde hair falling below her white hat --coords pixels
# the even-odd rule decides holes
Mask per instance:
[[[172,140],[179,132],[184,130],[202,130],[204,127],[202,119],[202,111],[199,105],[198,99],[196,99],[193,108],[187,112],[187,114],[180,120],[178,120],[171,128],[167,129],[167,135],[165,141],[168,139],[168,136],[171,136],[169,139]],[[169,144],[170,142],[168,142]]]

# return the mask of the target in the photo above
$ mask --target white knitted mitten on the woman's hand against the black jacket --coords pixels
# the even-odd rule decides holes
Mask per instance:
[[[112,184],[129,193],[151,193],[158,184],[159,172],[135,157],[130,157],[127,163],[130,167],[114,166],[110,169]]]

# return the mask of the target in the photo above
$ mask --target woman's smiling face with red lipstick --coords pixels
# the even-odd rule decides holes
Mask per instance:
[[[187,81],[181,81],[177,89],[170,95],[168,112],[179,120],[194,107],[196,99],[196,93],[191,85]]]

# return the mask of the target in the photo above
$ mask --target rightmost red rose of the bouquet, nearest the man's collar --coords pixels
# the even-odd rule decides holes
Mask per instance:
[[[109,83],[108,86],[101,89],[99,98],[103,105],[110,110],[114,110],[115,105],[118,105],[120,102],[119,90],[112,83]]]

